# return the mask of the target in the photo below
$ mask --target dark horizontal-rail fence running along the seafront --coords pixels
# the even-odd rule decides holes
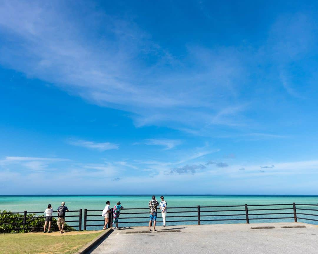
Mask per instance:
[[[313,206],[317,206],[317,209],[313,209]],[[312,207],[312,208],[311,208]],[[318,221],[318,204],[257,204],[257,205],[218,205],[218,206],[183,206],[183,207],[168,207],[166,222],[186,222],[190,224],[198,224],[206,222],[245,222],[258,220],[264,222],[266,220],[282,220],[289,219],[297,222],[298,219],[307,221]],[[84,209],[84,216],[82,218],[82,209],[70,211],[76,214],[66,215],[68,220],[66,222],[78,222],[76,225],[70,225],[77,227],[78,230],[82,230],[82,220],[84,227],[99,227],[104,226],[105,220],[101,216],[103,210],[87,210]],[[310,213],[302,211],[312,211]],[[30,213],[43,213],[43,212],[13,212],[13,214],[20,214],[21,217],[17,217],[17,220],[23,220],[23,227],[16,229],[27,229],[27,219],[39,218],[38,216],[27,217]],[[2,213],[4,214],[4,213]],[[57,217],[57,216],[53,216]],[[73,219],[75,218],[75,219]],[[160,210],[158,212],[157,222],[162,222]],[[315,218],[315,219],[314,219]],[[9,219],[9,218],[8,218]],[[12,218],[11,218],[12,219]],[[108,227],[112,227],[113,221],[113,209],[109,216]],[[125,208],[120,215],[121,224],[148,224],[149,223],[149,208]],[[19,224],[19,223],[11,223]]]

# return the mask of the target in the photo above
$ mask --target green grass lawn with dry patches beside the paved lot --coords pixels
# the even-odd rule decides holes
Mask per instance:
[[[1,254],[72,254],[101,232],[0,234]]]

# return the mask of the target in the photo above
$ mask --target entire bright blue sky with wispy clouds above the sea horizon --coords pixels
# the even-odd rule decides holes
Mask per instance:
[[[2,0],[0,194],[318,194],[317,7]]]

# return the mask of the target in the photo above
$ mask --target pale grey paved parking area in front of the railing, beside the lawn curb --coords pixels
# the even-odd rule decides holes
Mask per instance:
[[[251,227],[275,227],[251,229]],[[305,228],[281,228],[306,226]],[[318,227],[305,223],[214,224],[114,230],[92,254],[318,253]]]

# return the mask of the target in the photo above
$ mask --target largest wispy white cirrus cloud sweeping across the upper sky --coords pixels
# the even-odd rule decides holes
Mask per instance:
[[[250,124],[246,112],[254,108],[254,97],[240,97],[242,84],[258,90],[264,77],[251,80],[248,70],[257,73],[268,62],[274,65],[269,72],[274,76],[267,78],[297,95],[288,64],[306,57],[317,44],[315,20],[297,13],[269,26],[264,45],[205,48],[185,38],[185,51],[174,55],[133,18],[111,16],[93,3],[86,3],[85,11],[81,5],[77,8],[85,13],[81,22],[68,15],[74,10],[66,3],[4,1],[0,36],[6,40],[0,64],[90,103],[132,112],[136,126],[166,124],[194,135],[209,135],[215,125]],[[104,34],[87,30],[90,27],[100,27],[98,33]]]

